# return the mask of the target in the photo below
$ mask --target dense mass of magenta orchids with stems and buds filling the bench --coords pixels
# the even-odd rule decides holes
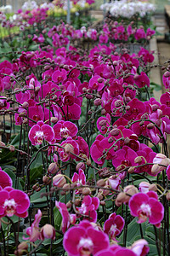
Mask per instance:
[[[35,25],[46,19],[46,6],[20,14]],[[158,102],[150,97],[153,52],[115,44],[153,34],[133,22],[125,28],[110,20],[100,31],[60,22],[33,36],[38,49],[0,63],[0,114],[18,132],[0,142],[0,156],[9,159],[0,170],[0,241],[10,241],[2,240],[4,248],[15,242],[15,255],[168,251],[169,61],[161,67],[167,92]],[[90,49],[77,47],[87,38]],[[22,236],[18,218],[29,222]],[[133,225],[137,234],[127,239]]]

